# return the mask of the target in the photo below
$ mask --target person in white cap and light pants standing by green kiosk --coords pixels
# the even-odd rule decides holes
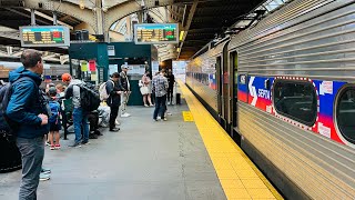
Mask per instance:
[[[129,71],[129,67],[126,64],[121,66],[122,71],[120,72],[120,83],[123,88],[123,92],[121,93],[121,118],[128,118],[131,114],[126,112],[126,103],[130,98],[131,88],[130,88],[130,81],[126,76],[126,72]]]

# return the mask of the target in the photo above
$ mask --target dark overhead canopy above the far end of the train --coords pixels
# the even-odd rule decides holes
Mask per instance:
[[[180,44],[179,59],[189,59],[202,47],[223,33],[236,21],[246,18],[247,13],[265,0],[175,0],[180,10],[185,10],[183,27],[184,40]],[[187,4],[184,9],[184,4]],[[181,12],[180,12],[181,13]]]

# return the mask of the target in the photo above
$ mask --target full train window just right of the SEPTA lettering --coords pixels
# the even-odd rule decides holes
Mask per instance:
[[[311,82],[276,81],[274,108],[280,114],[301,123],[313,126],[317,117],[317,97]]]

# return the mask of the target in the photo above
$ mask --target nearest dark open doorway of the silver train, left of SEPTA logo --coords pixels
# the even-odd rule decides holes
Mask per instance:
[[[234,138],[234,134],[237,130],[237,52],[231,52],[230,53],[230,69],[231,69],[231,80],[230,84],[231,87],[231,121],[232,126],[231,128],[233,129],[231,131],[232,138]]]

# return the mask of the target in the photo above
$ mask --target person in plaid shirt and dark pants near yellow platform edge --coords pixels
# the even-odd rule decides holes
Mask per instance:
[[[166,107],[166,91],[168,91],[168,79],[164,77],[165,70],[162,69],[160,74],[155,76],[152,80],[153,92],[155,93],[155,109],[153,119],[158,121],[158,114],[160,113],[161,119],[166,121],[164,117]]]

